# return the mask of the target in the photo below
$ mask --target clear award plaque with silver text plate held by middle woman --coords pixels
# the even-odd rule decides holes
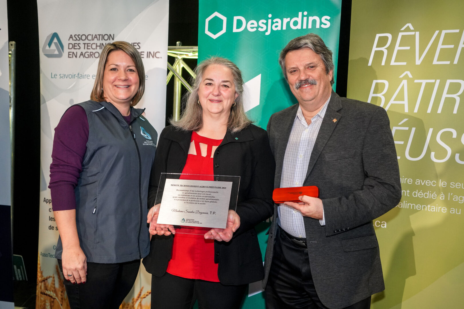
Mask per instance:
[[[155,200],[161,205],[150,229],[204,235],[226,228],[229,210],[237,208],[239,185],[240,176],[161,173]]]

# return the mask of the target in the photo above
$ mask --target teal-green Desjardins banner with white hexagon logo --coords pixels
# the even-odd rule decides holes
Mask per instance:
[[[342,1],[199,1],[198,61],[209,56],[232,60],[245,82],[245,110],[266,128],[271,114],[296,103],[278,63],[293,38],[313,32],[334,53],[337,67]],[[335,69],[336,79],[336,69]],[[335,88],[335,86],[334,86]],[[257,227],[264,259],[269,223]],[[250,284],[242,308],[264,308],[261,282]]]

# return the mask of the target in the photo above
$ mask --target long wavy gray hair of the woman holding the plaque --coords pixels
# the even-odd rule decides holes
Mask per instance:
[[[249,126],[252,121],[248,119],[243,109],[243,79],[242,72],[232,61],[221,57],[210,57],[203,60],[195,69],[197,77],[193,80],[192,93],[184,96],[185,110],[182,112],[180,120],[170,120],[172,126],[185,131],[198,131],[203,127],[203,109],[199,100],[198,89],[200,88],[203,74],[206,69],[213,64],[223,65],[232,72],[235,92],[238,94],[235,99],[235,106],[231,108],[227,129],[232,133],[239,132]]]

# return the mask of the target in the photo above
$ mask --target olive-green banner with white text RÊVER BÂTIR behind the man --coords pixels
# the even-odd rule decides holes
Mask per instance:
[[[387,110],[402,185],[374,221],[386,290],[372,308],[464,303],[463,1],[353,0],[348,97]]]

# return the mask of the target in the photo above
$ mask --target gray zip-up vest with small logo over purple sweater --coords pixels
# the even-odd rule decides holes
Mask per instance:
[[[157,133],[142,109],[130,127],[108,102],[86,101],[89,140],[75,193],[77,233],[88,262],[122,263],[150,251],[148,180]],[[57,254],[61,255],[61,240]]]

